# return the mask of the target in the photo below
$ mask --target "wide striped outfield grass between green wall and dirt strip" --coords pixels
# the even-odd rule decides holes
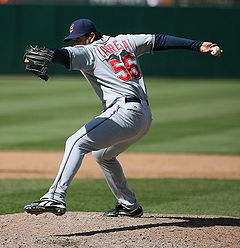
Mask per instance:
[[[129,151],[240,153],[240,80],[146,78],[153,124]],[[62,150],[101,112],[81,77],[0,77],[0,150]]]

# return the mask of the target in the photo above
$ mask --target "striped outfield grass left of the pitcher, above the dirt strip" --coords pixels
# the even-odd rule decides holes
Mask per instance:
[[[51,81],[44,84],[31,77],[22,84],[12,81],[10,86],[3,83],[0,87],[7,89],[1,94],[8,92],[5,100],[1,98],[4,100],[4,108],[0,111],[1,136],[5,145],[13,149],[25,149],[26,146],[41,149],[54,143],[62,146],[67,135],[93,118],[93,112],[98,113],[97,99],[89,96],[94,93],[83,79],[79,83],[70,78],[65,83]],[[34,144],[39,142],[41,145],[35,147]],[[53,149],[56,148],[53,146]]]

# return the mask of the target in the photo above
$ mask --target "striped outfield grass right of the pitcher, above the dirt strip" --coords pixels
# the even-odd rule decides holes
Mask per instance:
[[[158,96],[157,83],[150,85],[153,124],[144,138],[146,151],[239,153],[240,85],[236,81],[226,80],[223,84],[213,80],[206,84],[203,80],[200,85],[173,83],[167,87],[164,83],[164,86],[160,86],[163,91]],[[173,95],[179,93],[178,97],[170,97],[170,104],[165,95],[165,91],[171,94],[169,88]],[[130,150],[141,151],[141,146],[136,144]]]

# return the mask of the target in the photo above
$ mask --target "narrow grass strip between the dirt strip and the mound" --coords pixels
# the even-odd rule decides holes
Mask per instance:
[[[52,180],[0,180],[0,214],[23,211],[43,195]],[[129,179],[146,213],[240,217],[239,180]],[[103,179],[76,179],[66,198],[69,211],[103,212],[115,200]]]

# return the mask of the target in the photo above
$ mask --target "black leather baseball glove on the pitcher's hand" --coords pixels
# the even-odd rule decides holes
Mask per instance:
[[[49,63],[52,61],[54,51],[47,48],[29,46],[24,53],[24,63],[26,71],[30,71],[47,81],[47,70]]]

